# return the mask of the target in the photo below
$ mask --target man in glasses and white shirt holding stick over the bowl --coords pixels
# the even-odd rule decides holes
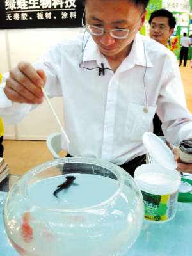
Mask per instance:
[[[5,74],[0,116],[5,124],[20,122],[43,101],[45,86],[48,97],[63,97],[70,140],[69,150],[65,141],[63,149],[110,161],[133,175],[136,162],[145,161],[142,136],[152,132],[156,109],[168,142],[179,145],[192,136],[177,58],[137,33],[148,0],[84,2],[89,33],[52,45],[33,66],[19,63]],[[179,168],[190,172],[192,164]]]

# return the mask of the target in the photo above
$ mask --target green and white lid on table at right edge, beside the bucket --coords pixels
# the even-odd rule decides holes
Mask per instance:
[[[181,178],[178,202],[192,202],[192,180]]]

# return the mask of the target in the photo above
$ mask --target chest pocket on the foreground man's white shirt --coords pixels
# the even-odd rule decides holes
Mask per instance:
[[[143,111],[145,107],[146,106],[129,103],[125,122],[126,140],[141,141],[143,134],[150,129],[157,106],[149,106],[147,113]]]

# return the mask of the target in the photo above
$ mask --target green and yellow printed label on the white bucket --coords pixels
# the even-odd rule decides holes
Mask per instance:
[[[154,195],[141,191],[145,204],[145,219],[166,221],[172,219],[177,209],[178,191],[168,195]]]

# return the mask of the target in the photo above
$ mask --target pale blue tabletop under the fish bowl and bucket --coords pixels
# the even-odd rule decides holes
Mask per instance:
[[[1,185],[0,191],[0,255],[19,256],[6,236],[3,225],[3,206],[10,188],[10,183],[17,180],[19,175],[10,175]],[[190,177],[192,179],[192,175]],[[2,189],[4,188],[4,191]],[[144,220],[140,236],[125,256],[191,256],[192,243],[192,203],[177,204],[175,217],[166,223],[154,223]],[[54,256],[54,255],[53,255]],[[75,256],[75,255],[74,255]]]

